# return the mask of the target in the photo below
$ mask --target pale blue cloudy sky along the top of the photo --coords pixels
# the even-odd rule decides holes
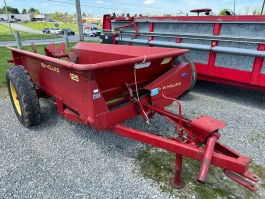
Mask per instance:
[[[6,0],[7,4],[23,8],[38,8],[43,13],[75,12],[75,0]],[[236,0],[236,12],[246,13],[246,10],[261,8],[263,0]],[[0,0],[0,6],[4,0]],[[169,13],[176,14],[180,10],[188,12],[195,8],[212,8],[218,13],[223,8],[233,10],[234,0],[81,0],[81,10],[87,14],[102,15],[106,13]]]

